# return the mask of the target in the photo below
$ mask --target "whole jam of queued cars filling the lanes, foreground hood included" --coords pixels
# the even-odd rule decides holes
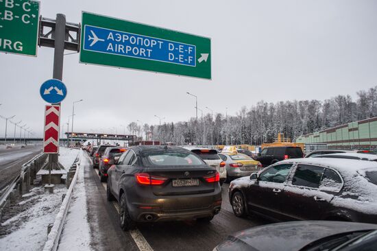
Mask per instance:
[[[93,167],[98,165],[101,181],[107,180],[108,200],[120,204],[123,230],[138,222],[210,222],[225,200],[221,184],[226,181],[236,217],[258,215],[284,223],[236,233],[215,250],[376,248],[376,155],[330,150],[304,158],[300,147],[279,146],[252,158],[232,147],[221,153],[185,148],[99,145]],[[302,229],[311,238],[284,239],[284,231],[300,235]],[[267,232],[268,238],[256,238]]]

